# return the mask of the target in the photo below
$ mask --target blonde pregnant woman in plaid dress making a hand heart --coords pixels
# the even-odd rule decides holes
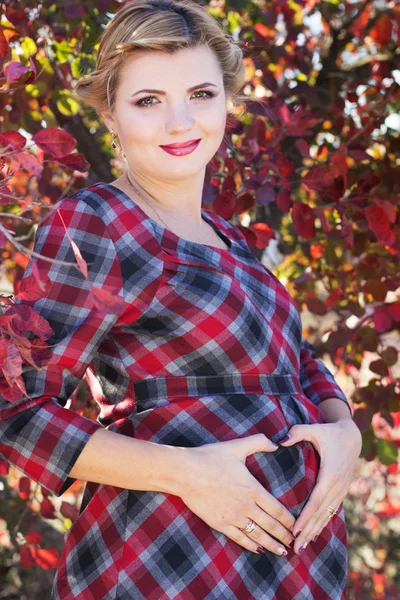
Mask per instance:
[[[24,276],[34,262],[51,280],[31,303],[51,358],[24,366],[27,397],[0,400],[3,456],[56,496],[87,481],[53,600],[344,598],[360,432],[288,291],[202,208],[244,81],[206,9],[135,0],[76,87],[125,168],[37,228],[35,251],[57,262],[32,257]],[[66,406],[85,374],[97,421]]]

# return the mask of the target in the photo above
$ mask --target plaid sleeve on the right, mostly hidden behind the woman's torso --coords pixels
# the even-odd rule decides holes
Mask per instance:
[[[300,344],[300,383],[304,394],[318,405],[328,398],[339,398],[345,402],[352,412],[350,403],[341,387],[336,383],[333,373],[322,362],[315,358],[315,348],[305,338]]]

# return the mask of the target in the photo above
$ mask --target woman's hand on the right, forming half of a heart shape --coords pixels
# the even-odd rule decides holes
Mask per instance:
[[[301,546],[304,549],[329,523],[328,506],[338,508],[347,495],[360,456],[362,436],[349,418],[334,423],[294,425],[288,435],[290,439],[279,442],[280,445],[288,447],[303,440],[311,442],[321,459],[314,489],[292,527],[294,536],[301,531],[293,545],[293,550],[299,554]]]

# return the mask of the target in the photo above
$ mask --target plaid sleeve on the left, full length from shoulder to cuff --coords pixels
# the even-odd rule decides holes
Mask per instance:
[[[91,284],[123,297],[114,243],[103,220],[83,200],[64,198],[53,207],[36,230],[34,250],[76,264],[60,215],[87,263]],[[41,370],[23,364],[27,393],[22,399],[11,402],[0,396],[0,455],[61,496],[76,481],[69,472],[83,448],[103,428],[65,404],[118,315],[95,307],[88,281],[75,267],[32,256],[23,279],[32,274],[33,261],[40,277],[47,275],[51,280],[46,296],[28,303],[54,332],[46,340],[51,354]],[[19,300],[17,296],[15,303]]]

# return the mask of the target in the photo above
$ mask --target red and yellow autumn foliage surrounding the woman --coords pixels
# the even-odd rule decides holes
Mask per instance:
[[[2,3],[0,247],[13,292],[1,297],[0,394],[9,402],[24,395],[24,361],[45,364],[52,333],[30,306],[46,294],[48,280],[33,268],[20,284],[35,226],[61,197],[118,176],[109,132],[79,104],[72,84],[94,67],[107,12],[120,4]],[[208,165],[204,202],[242,230],[258,257],[276,245],[277,275],[298,309],[322,323],[305,334],[352,384],[362,457],[385,476],[366,543],[379,537],[382,519],[388,539],[390,519],[400,511],[390,491],[399,479],[400,447],[400,9],[369,0],[203,4],[241,41],[249,96],[228,118],[229,142]],[[92,286],[91,298],[101,310],[122,309],[106,290]],[[324,329],[325,317],[331,325]],[[95,418],[84,382],[72,407]],[[0,482],[43,519],[68,528],[78,516],[75,501],[56,506],[1,458]],[[354,493],[356,502],[362,495]],[[23,568],[57,565],[57,550],[39,532],[24,533],[23,519],[11,527],[7,514],[4,522],[0,551],[3,545],[19,552]],[[352,566],[349,598],[363,598],[365,590],[370,598],[394,598],[395,560],[387,552],[379,569]]]

